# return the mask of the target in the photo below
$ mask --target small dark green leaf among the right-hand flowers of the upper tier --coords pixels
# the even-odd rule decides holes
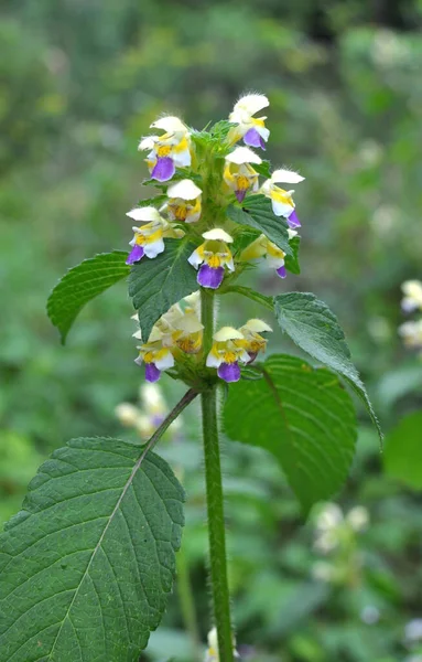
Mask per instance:
[[[227,215],[235,223],[259,229],[286,255],[293,255],[289,244],[288,224],[282,216],[275,216],[271,200],[264,195],[248,195],[242,207],[230,204],[227,207]]]

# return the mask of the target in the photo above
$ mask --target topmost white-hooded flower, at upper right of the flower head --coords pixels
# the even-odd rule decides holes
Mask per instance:
[[[267,117],[253,117],[256,113],[267,108],[270,102],[263,94],[247,94],[242,96],[229,115],[229,121],[237,125],[228,134],[229,142],[237,142],[241,138],[249,147],[266,149],[270,131],[264,120]]]

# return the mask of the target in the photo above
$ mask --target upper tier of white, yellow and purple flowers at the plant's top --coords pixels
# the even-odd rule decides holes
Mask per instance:
[[[224,146],[227,151],[224,167],[218,183],[219,194],[226,196],[227,204],[231,194],[242,203],[248,193],[261,193],[271,200],[275,216],[283,217],[289,227],[300,227],[292,190],[284,190],[279,184],[296,184],[303,181],[303,177],[286,169],[275,170],[271,177],[259,185],[259,173],[253,166],[260,166],[262,159],[250,148],[264,149],[270,131],[264,125],[266,117],[256,118],[256,113],[269,106],[269,100],[260,94],[248,94],[239,99],[229,115],[229,130],[225,137]],[[165,248],[164,239],[182,238],[188,228],[185,224],[199,224],[201,235],[206,241],[198,246],[190,258],[190,263],[198,269],[197,281],[202,287],[217,289],[226,273],[234,273],[236,261],[249,261],[259,257],[267,257],[273,265],[278,263],[275,270],[284,278],[285,269],[281,260],[284,259],[283,252],[272,244],[264,235],[250,249],[236,256],[234,260],[228,244],[234,238],[230,234],[230,222],[225,220],[216,226],[214,218],[202,218],[203,190],[193,179],[181,179],[180,170],[190,174],[191,178],[204,180],[203,163],[197,163],[195,154],[195,132],[190,130],[177,117],[162,117],[151,125],[153,129],[164,131],[160,136],[147,136],[142,138],[139,149],[148,150],[147,166],[151,179],[159,185],[166,185],[166,202],[158,211],[153,206],[137,207],[127,215],[142,223],[133,227],[133,239],[130,242],[132,250],[128,257],[128,264],[134,264],[144,256],[154,258]],[[247,147],[234,147],[236,142],[244,140]],[[231,149],[234,147],[234,149]],[[196,167],[194,168],[194,163]],[[171,182],[171,180],[176,180]],[[215,194],[217,191],[212,191]],[[224,225],[224,227],[221,227]],[[232,224],[231,224],[232,225]],[[197,233],[195,233],[197,235]],[[274,258],[274,259],[273,259]]]

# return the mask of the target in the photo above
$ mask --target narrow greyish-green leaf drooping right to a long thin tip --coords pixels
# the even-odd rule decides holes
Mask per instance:
[[[343,375],[364,402],[382,441],[382,431],[365,385],[350,360],[344,332],[336,316],[311,292],[289,292],[274,297],[280,327],[304,352]]]

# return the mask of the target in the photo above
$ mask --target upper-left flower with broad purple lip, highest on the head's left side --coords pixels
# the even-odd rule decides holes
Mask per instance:
[[[142,138],[138,149],[150,150],[145,161],[151,178],[166,182],[172,179],[176,168],[191,166],[191,135],[178,117],[162,117],[152,122],[151,128],[165,132]]]

